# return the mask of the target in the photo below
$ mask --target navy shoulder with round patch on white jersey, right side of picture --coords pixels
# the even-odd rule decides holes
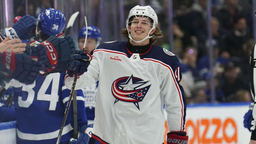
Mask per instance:
[[[155,45],[152,45],[151,49],[152,52],[149,55],[149,58],[159,60],[162,63],[171,66],[172,70],[175,70],[181,64],[178,57],[169,50]]]

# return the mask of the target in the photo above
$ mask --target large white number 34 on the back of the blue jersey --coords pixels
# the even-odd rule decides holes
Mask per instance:
[[[42,86],[40,87],[40,89],[37,93],[37,100],[50,101],[50,106],[49,106],[50,111],[55,111],[57,102],[59,101],[59,95],[58,95],[59,80],[60,80],[59,73],[55,73],[55,75],[51,74],[51,75],[46,76]],[[45,94],[45,92],[48,89],[51,82],[52,82],[51,94]],[[25,101],[22,100],[21,96],[18,97],[18,105],[20,107],[27,108],[32,104],[32,102],[34,100],[34,94],[35,94],[33,88],[35,86],[36,86],[35,82],[31,85],[22,86],[22,91],[27,91],[28,96],[27,96],[27,100],[25,100]]]

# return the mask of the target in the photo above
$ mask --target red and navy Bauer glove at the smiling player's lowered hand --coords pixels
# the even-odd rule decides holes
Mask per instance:
[[[188,144],[187,132],[169,132],[167,133],[167,144]]]

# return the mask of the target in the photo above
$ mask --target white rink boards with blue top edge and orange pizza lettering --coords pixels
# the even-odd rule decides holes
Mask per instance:
[[[244,114],[250,103],[202,104],[187,106],[186,131],[189,144],[249,143],[250,132],[244,128]],[[166,115],[166,113],[165,113]],[[0,123],[0,144],[16,144],[15,121]],[[165,122],[165,144],[168,132]]]

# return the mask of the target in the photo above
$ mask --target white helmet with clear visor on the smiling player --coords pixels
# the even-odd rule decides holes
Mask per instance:
[[[129,15],[127,17],[126,27],[127,27],[127,31],[128,31],[128,34],[129,34],[129,38],[132,39],[132,41],[134,41],[135,43],[140,43],[140,42],[145,41],[148,38],[153,37],[154,35],[149,36],[149,33],[148,33],[148,35],[144,39],[142,39],[140,41],[135,41],[130,36],[128,26],[130,25],[130,22],[132,21],[133,16],[142,16],[142,17],[149,17],[149,18],[151,18],[151,25],[150,26],[152,26],[152,28],[149,31],[149,33],[150,33],[152,30],[154,30],[156,28],[156,25],[158,23],[157,15],[156,15],[155,11],[152,9],[152,7],[151,6],[139,6],[139,5],[134,6],[130,10]]]

